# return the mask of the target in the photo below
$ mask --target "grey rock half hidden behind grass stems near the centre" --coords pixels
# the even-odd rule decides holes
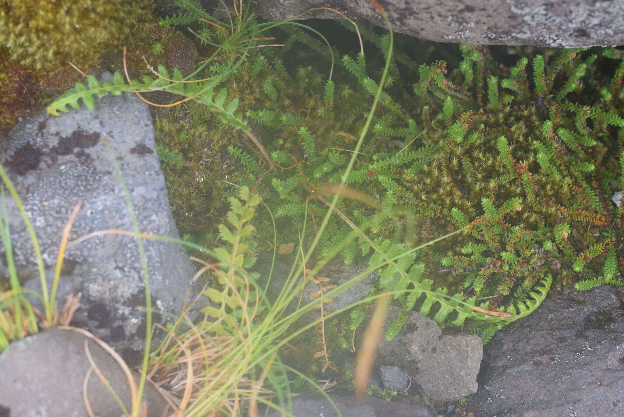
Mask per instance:
[[[258,282],[261,287],[264,288],[266,285],[266,280],[268,279],[269,272],[271,270],[271,259],[273,254],[264,253],[258,257],[258,261],[254,266],[254,270],[260,273],[260,278]],[[273,301],[277,298],[281,289],[284,287],[284,283],[286,282],[286,278],[288,278],[288,274],[290,273],[290,269],[295,261],[294,255],[289,256],[277,256],[275,258],[275,265],[273,267],[273,274],[271,275],[271,280],[266,291],[267,297]],[[311,265],[308,265],[308,268],[311,269]],[[351,265],[344,265],[343,260],[334,259],[325,265],[321,271],[319,272],[319,277],[327,277],[330,279],[329,282],[323,283],[323,285],[344,285],[352,278],[357,277],[359,274],[363,273],[368,269],[368,259],[366,258],[356,258],[356,260],[351,263]],[[366,275],[356,282],[353,282],[349,285],[345,285],[343,290],[338,293],[335,297],[332,298],[333,302],[324,302],[323,303],[323,311],[324,312],[334,312],[339,310],[340,308],[347,307],[348,305],[358,302],[362,298],[368,295],[369,290],[373,287],[374,283],[378,279],[379,275],[377,272],[370,273]],[[310,303],[313,300],[310,300],[310,295],[314,292],[318,291],[318,285],[314,283],[310,283],[306,285],[303,290],[303,298],[301,299],[301,307]],[[290,304],[288,305],[287,311],[293,312],[295,311],[300,297],[295,297]],[[319,316],[318,310],[313,310],[313,312],[309,315],[313,318]]]

